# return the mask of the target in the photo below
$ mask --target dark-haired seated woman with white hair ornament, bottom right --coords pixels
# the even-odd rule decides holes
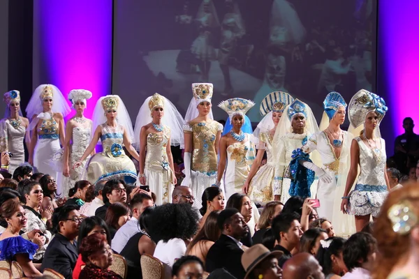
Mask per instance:
[[[336,236],[321,241],[316,259],[323,269],[325,278],[339,279],[348,271],[344,263],[344,243],[345,239]]]

